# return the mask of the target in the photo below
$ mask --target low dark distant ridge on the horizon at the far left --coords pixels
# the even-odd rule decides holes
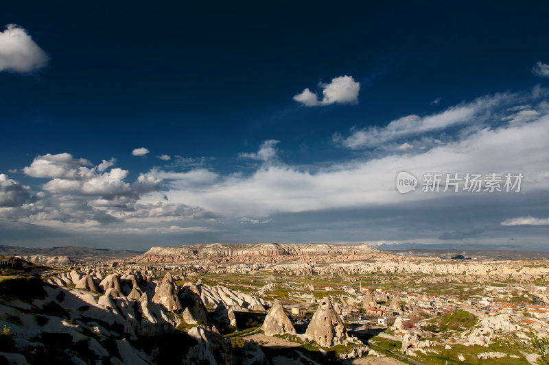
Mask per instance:
[[[47,247],[30,248],[8,246],[0,244],[0,255],[21,256],[25,260],[51,263],[69,263],[73,261],[96,261],[96,260],[117,260],[134,257],[143,253],[143,251],[130,250],[110,250],[110,249],[91,249],[89,247],[65,246],[65,247]],[[33,260],[34,257],[36,260]],[[54,259],[54,257],[58,257]],[[68,259],[68,260],[67,260]]]

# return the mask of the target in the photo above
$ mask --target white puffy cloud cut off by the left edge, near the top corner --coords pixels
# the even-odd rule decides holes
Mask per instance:
[[[0,72],[32,73],[47,62],[45,51],[19,25],[10,24],[0,33]]]

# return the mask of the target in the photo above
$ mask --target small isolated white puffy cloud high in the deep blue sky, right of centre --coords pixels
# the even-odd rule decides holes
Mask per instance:
[[[293,99],[305,106],[358,103],[360,83],[355,81],[352,76],[334,77],[328,84],[320,84],[320,87],[323,89],[322,100],[318,100],[318,96],[309,88],[305,88],[303,92],[294,95]]]

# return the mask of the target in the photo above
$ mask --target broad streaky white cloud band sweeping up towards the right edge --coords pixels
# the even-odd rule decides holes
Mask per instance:
[[[475,124],[480,120],[484,123],[489,118],[493,118],[495,124],[493,127],[488,123],[480,129],[471,128],[467,133],[457,134],[456,139],[439,140],[434,146],[414,149],[411,154],[395,154],[393,149],[375,158],[319,162],[320,166],[313,169],[279,161],[278,164],[261,165],[251,174],[220,175],[203,169],[180,174],[156,170],[150,174],[168,179],[170,201],[201,206],[213,212],[233,212],[241,217],[395,204],[401,201],[401,196],[395,193],[394,179],[403,168],[412,173],[519,171],[524,173],[524,184],[528,189],[546,188],[548,175],[542,178],[539,174],[548,171],[546,140],[549,138],[549,116],[540,112],[539,116],[525,123],[502,124],[501,116],[495,110],[499,110],[500,99],[504,98],[504,95],[484,97],[436,115],[416,116],[412,123],[423,131],[461,121]],[[404,124],[403,121],[398,123]],[[400,124],[393,128],[399,135],[412,133]],[[390,137],[389,131],[379,133]],[[259,151],[268,150],[268,153],[258,151],[241,157],[268,160],[275,155],[270,149],[272,144],[274,142],[264,143],[259,148]],[[412,144],[404,143],[400,147],[411,151]],[[189,184],[193,173],[202,177],[200,184]],[[205,183],[208,181],[203,178],[205,176],[211,177],[209,184]],[[156,193],[152,197],[156,197]],[[433,198],[434,195],[429,194],[412,194],[407,199]]]

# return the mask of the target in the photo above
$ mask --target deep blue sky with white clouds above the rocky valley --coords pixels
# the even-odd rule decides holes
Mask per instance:
[[[0,243],[547,251],[548,8],[4,5]]]

